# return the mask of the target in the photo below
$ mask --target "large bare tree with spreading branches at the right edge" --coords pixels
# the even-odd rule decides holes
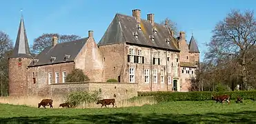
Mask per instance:
[[[253,11],[239,12],[232,10],[226,18],[219,21],[213,30],[213,37],[208,43],[208,58],[217,61],[236,59],[239,64],[243,89],[247,89],[247,69],[255,56],[247,58],[248,52],[256,42],[256,21]]]

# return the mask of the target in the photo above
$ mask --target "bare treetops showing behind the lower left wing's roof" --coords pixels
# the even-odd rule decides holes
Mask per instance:
[[[34,44],[32,46],[32,52],[39,53],[43,49],[47,48],[48,46],[52,45],[52,37],[58,37],[58,42],[63,43],[67,41],[73,41],[76,39],[80,39],[81,37],[77,35],[68,35],[68,34],[42,34],[40,37],[34,40]]]

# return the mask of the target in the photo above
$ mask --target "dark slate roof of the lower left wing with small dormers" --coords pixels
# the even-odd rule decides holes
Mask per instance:
[[[64,43],[57,43],[54,47],[49,46],[45,48],[42,52],[37,54],[34,59],[38,59],[38,61],[33,65],[33,61],[31,61],[29,67],[38,66],[38,65],[48,65],[55,63],[65,63],[74,61],[77,54],[79,54],[83,45],[85,45],[88,37],[83,39],[77,39],[75,41],[69,41]],[[64,61],[64,56],[70,55],[69,58]],[[55,61],[50,63],[51,57],[56,57]]]

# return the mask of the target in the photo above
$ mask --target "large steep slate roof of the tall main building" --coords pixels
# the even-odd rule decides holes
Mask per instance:
[[[98,46],[117,43],[134,43],[137,45],[146,45],[148,47],[180,51],[177,48],[177,39],[175,39],[175,37],[170,37],[170,31],[165,25],[155,23],[154,26],[157,29],[157,35],[154,35],[155,41],[151,41],[150,35],[153,34],[152,24],[147,20],[141,19],[141,32],[137,29],[138,24],[139,23],[137,23],[135,17],[116,14],[104,36],[99,41]],[[132,32],[137,32],[137,39]],[[165,39],[170,40],[170,45],[167,45]]]

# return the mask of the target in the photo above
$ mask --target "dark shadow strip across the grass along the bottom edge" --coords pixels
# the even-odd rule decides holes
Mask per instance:
[[[77,116],[21,116],[1,123],[256,123],[255,111],[208,114],[80,114]]]

